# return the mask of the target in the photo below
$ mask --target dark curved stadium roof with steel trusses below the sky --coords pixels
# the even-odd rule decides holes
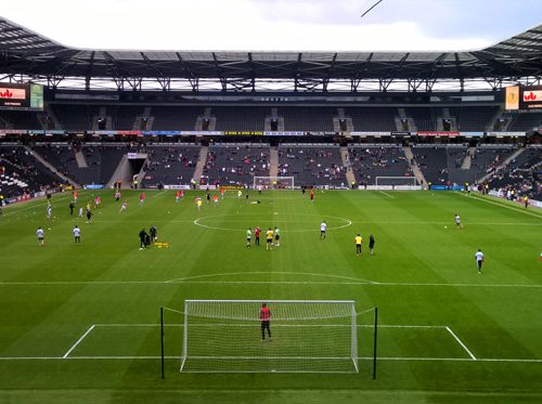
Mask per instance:
[[[12,78],[46,79],[55,86],[64,78],[109,79],[118,89],[141,89],[155,80],[164,90],[171,80],[216,80],[222,90],[250,90],[255,82],[293,80],[295,90],[327,90],[334,80],[358,90],[363,80],[436,82],[439,79],[482,79],[502,83],[542,76],[542,25],[492,47],[462,52],[197,52],[121,51],[68,48],[0,18],[0,73]],[[418,84],[420,86],[420,84]],[[382,86],[380,86],[382,88]],[[410,86],[409,86],[410,88]],[[430,88],[428,88],[430,90]]]

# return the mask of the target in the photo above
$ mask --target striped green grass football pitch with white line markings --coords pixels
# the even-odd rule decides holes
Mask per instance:
[[[452,192],[318,191],[311,203],[300,192],[229,191],[218,206],[204,192],[179,204],[173,191],[146,192],[144,206],[139,194],[122,192],[119,212],[112,191],[80,192],[79,206],[102,199],[90,224],[69,214],[69,194],[52,197],[50,220],[44,200],[4,209],[0,402],[542,400],[542,211]],[[140,250],[151,225],[169,248]],[[247,248],[256,226],[278,226],[281,246],[266,250],[262,235]],[[185,299],[354,300],[360,372],[180,373],[183,315],[166,311],[162,379],[160,308],[182,312]],[[287,347],[266,343],[275,342]],[[261,343],[257,325],[240,354]]]

